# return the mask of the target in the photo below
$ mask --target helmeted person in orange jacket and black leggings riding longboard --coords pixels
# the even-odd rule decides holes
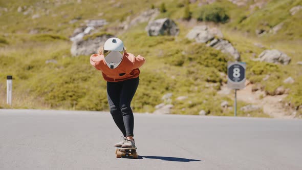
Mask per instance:
[[[127,53],[123,41],[109,38],[98,54],[90,57],[90,63],[107,81],[107,99],[114,122],[123,134],[123,140],[116,147],[136,147],[134,141],[134,116],[131,101],[139,84],[139,68],[145,58]]]

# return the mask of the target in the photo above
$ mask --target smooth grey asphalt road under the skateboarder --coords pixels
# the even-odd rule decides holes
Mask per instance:
[[[0,169],[302,169],[302,121],[135,114],[139,159],[115,158],[105,112],[0,110]]]

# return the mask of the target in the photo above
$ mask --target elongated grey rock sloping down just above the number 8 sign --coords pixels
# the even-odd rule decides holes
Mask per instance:
[[[223,39],[213,39],[207,46],[213,47],[214,49],[220,50],[223,53],[231,55],[234,60],[240,61],[239,52],[232,46],[232,44]]]

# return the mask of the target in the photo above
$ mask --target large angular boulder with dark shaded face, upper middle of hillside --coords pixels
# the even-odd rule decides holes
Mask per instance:
[[[173,35],[179,34],[179,28],[175,22],[169,18],[161,18],[149,22],[146,27],[148,36]]]

